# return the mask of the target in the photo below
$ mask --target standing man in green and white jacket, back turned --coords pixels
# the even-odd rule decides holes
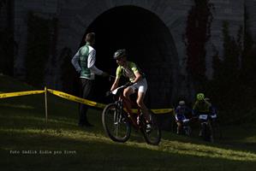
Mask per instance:
[[[92,97],[92,86],[95,79],[95,74],[102,75],[104,77],[109,76],[109,74],[98,69],[95,66],[96,62],[96,50],[92,48],[95,44],[95,33],[89,32],[86,34],[86,45],[80,47],[80,50],[76,52],[71,62],[74,65],[77,73],[80,74],[80,97],[91,98]],[[79,111],[79,123],[80,127],[93,127],[92,124],[87,120],[88,106],[85,104],[80,104]]]

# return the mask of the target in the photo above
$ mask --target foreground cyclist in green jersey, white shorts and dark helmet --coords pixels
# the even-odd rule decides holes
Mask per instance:
[[[146,94],[147,89],[147,82],[145,78],[145,74],[143,74],[140,71],[140,68],[134,63],[129,62],[127,60],[127,52],[126,50],[117,50],[114,53],[114,59],[116,60],[116,63],[118,64],[118,67],[116,68],[116,80],[114,81],[113,85],[111,86],[110,91],[113,91],[118,86],[120,77],[123,75],[124,77],[128,78],[130,81],[130,85],[124,89],[123,96],[125,97],[126,106],[128,108],[128,113],[131,113],[131,103],[130,103],[130,95],[135,92],[135,90],[138,90],[138,97],[136,100],[136,103],[142,110],[143,114],[146,118],[146,132],[150,132],[151,130],[151,123],[150,123],[150,117],[148,109],[146,108],[146,105],[144,104],[143,100]]]

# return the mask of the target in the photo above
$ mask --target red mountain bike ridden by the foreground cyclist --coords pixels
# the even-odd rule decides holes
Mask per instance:
[[[156,115],[149,110],[149,118],[151,129],[146,129],[146,119],[141,112],[140,107],[130,101],[135,109],[128,111],[123,90],[128,85],[117,87],[116,90],[110,91],[110,95],[114,97],[114,103],[108,104],[102,113],[102,123],[105,133],[116,142],[126,142],[131,135],[131,127],[140,130],[147,144],[158,145],[161,140],[161,130],[158,127]]]

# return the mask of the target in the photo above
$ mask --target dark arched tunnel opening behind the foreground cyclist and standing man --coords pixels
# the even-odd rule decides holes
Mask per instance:
[[[176,47],[168,27],[157,15],[135,6],[116,7],[99,15],[85,35],[87,32],[96,33],[98,68],[116,75],[117,64],[112,56],[116,50],[128,50],[128,61],[135,62],[146,73],[147,106],[170,107],[176,70],[173,66],[178,66],[177,60],[173,60]],[[104,94],[113,81],[98,76],[93,100],[106,103]]]

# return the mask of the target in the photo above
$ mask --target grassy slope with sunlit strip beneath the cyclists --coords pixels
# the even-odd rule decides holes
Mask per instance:
[[[0,75],[0,91],[28,90],[33,88]],[[81,129],[76,126],[76,103],[50,94],[48,97],[47,129],[43,94],[0,99],[0,170],[234,171],[256,168],[254,126],[227,127],[225,139],[216,144],[168,132],[163,133],[159,146],[146,144],[140,133],[134,132],[127,143],[118,144],[105,136],[100,110],[89,111],[95,127]],[[24,154],[23,150],[37,154]],[[20,154],[13,154],[15,151]]]

